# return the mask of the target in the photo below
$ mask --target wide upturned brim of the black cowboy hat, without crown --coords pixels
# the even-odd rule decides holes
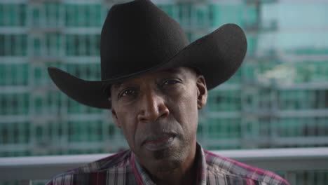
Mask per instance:
[[[235,74],[245,57],[246,50],[247,41],[242,29],[235,24],[226,24],[189,44],[167,62],[127,76],[104,81],[85,81],[55,67],[49,67],[48,73],[57,87],[73,100],[90,107],[111,109],[108,93],[104,91],[105,86],[147,71],[193,67],[203,74],[207,89],[210,90]]]

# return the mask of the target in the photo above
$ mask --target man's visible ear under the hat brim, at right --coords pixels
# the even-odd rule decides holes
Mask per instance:
[[[207,87],[203,75],[197,76],[197,108],[203,109],[207,102]]]

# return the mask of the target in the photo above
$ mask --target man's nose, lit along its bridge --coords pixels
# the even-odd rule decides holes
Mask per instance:
[[[140,122],[152,122],[158,118],[165,118],[170,114],[162,95],[156,92],[147,92],[140,100],[138,120]]]

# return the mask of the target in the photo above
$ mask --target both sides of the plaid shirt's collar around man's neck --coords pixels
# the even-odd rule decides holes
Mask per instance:
[[[196,163],[197,163],[197,184],[205,185],[207,179],[207,165],[205,160],[205,154],[203,151],[202,146],[200,144],[196,144]],[[137,178],[138,184],[155,184],[149,174],[144,170],[144,168],[138,163],[137,159],[135,158],[135,153],[132,152],[131,155],[131,164],[133,172]]]

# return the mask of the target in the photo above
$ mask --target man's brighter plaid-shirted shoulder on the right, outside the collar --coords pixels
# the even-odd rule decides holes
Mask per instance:
[[[204,153],[208,174],[215,176],[214,178],[217,178],[218,175],[223,176],[225,181],[230,181],[232,184],[236,182],[248,184],[247,182],[252,181],[257,184],[289,185],[285,179],[268,170],[246,165],[210,151],[204,151]]]

